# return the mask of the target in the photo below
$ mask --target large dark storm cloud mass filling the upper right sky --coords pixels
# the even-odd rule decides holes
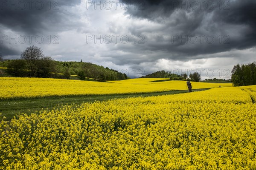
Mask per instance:
[[[134,3],[127,0],[123,2]],[[129,28],[131,34],[145,36],[145,45],[140,46],[138,51],[164,51],[169,52],[170,55],[159,58],[187,60],[197,59],[200,54],[215,54],[256,45],[256,1],[205,0],[202,3],[194,0],[197,7],[191,2],[143,0],[143,10],[128,8],[127,13],[132,17],[145,18],[163,25],[158,30],[151,31],[150,28],[143,31]],[[195,43],[189,41],[189,36],[193,35],[197,37]],[[198,35],[204,36],[202,42]],[[177,36],[179,36],[178,40],[176,40]],[[188,41],[181,40],[186,36]],[[213,42],[211,42],[212,37]],[[138,47],[134,46],[134,48]]]

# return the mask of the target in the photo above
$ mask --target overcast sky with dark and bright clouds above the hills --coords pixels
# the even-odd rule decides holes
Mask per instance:
[[[0,52],[30,45],[58,61],[140,77],[154,71],[229,78],[256,61],[255,0],[1,0]]]

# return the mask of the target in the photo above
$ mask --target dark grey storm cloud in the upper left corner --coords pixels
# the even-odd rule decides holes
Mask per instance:
[[[65,6],[73,6],[79,0],[1,0],[0,24],[13,31],[40,34],[52,25],[63,22]],[[61,29],[61,27],[59,28]]]

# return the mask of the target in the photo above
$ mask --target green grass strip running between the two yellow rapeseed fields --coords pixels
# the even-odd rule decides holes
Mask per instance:
[[[195,89],[193,91],[204,91],[206,89]],[[138,96],[158,96],[166,94],[180,94],[187,93],[187,90],[183,91],[165,91],[165,92],[155,92],[155,93],[141,93],[141,94],[115,94],[115,95],[94,95],[94,96],[67,96],[67,97],[46,97],[39,99],[15,99],[15,100],[5,100],[0,101],[0,113],[6,117],[6,120],[11,120],[14,116],[27,113],[38,113],[41,109],[51,110],[53,108],[61,107],[65,104],[81,104],[83,102],[95,102],[103,101],[116,98],[128,98],[128,97],[138,97]]]

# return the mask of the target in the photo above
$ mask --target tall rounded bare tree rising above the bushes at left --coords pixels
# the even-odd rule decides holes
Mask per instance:
[[[43,51],[37,46],[27,47],[20,55],[21,59],[25,59],[30,69],[30,77],[35,75],[38,61],[44,57]]]

